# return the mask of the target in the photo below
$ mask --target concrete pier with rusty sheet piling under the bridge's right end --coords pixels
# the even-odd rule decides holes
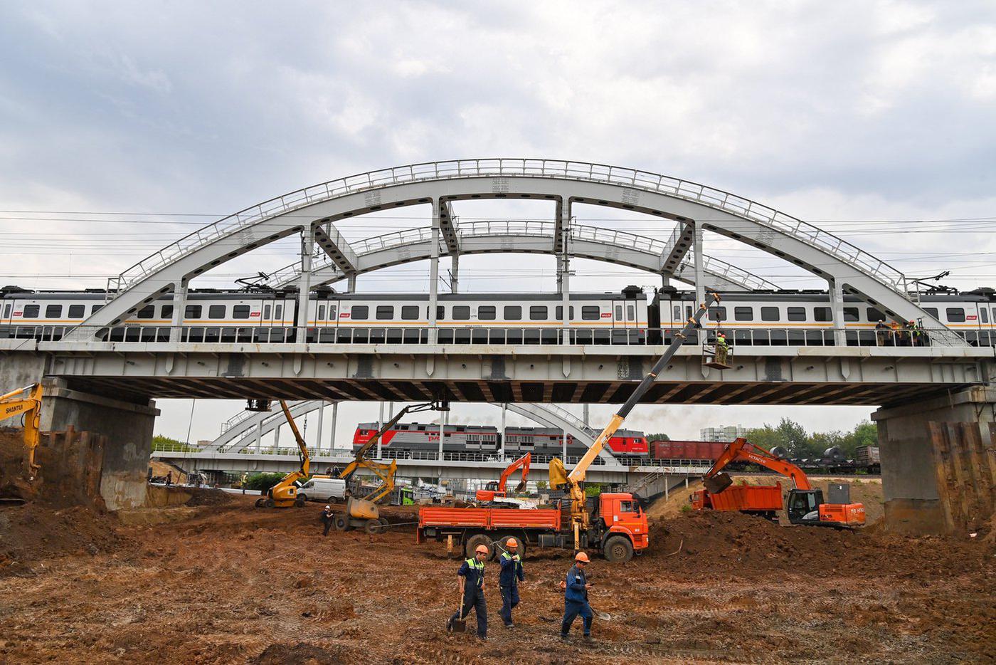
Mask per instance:
[[[878,426],[884,528],[963,534],[988,524],[996,501],[996,384],[871,415]]]

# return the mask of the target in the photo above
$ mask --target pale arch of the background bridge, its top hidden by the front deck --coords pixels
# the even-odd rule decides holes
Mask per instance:
[[[330,404],[333,404],[333,402],[326,402],[322,400],[305,400],[303,402],[296,402],[291,405],[291,415],[294,416],[294,418],[299,418],[305,414],[310,414],[313,411],[318,411],[323,405],[328,406]],[[503,405],[493,404],[492,406],[501,408]],[[559,413],[559,411],[562,411],[561,409],[552,408],[543,404],[509,403],[504,406],[508,408],[509,411],[528,418],[538,425],[559,428],[589,448],[591,448],[592,444],[595,443],[595,437],[590,431],[583,427],[580,419],[573,417],[573,414],[571,414],[571,418],[562,416]],[[249,447],[251,442],[248,440],[253,437],[253,433],[256,432],[256,428],[260,424],[262,424],[260,436],[264,436],[270,434],[286,422],[287,421],[284,418],[283,412],[279,410],[254,413],[249,418],[244,418],[238,421],[234,427],[222,432],[214,441],[204,447],[203,452],[223,453],[243,441],[246,441],[247,443],[245,446],[239,446],[239,448]],[[352,450],[352,446],[350,448]],[[601,457],[609,464],[618,464],[616,458],[613,457],[612,453],[606,449],[603,449]]]

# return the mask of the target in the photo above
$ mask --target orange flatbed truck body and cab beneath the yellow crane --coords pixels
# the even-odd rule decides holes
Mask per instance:
[[[646,514],[632,495],[605,493],[596,500],[590,526],[579,534],[583,548],[595,548],[610,561],[628,561],[647,544]],[[486,545],[492,555],[496,543],[509,536],[519,542],[519,554],[527,546],[573,547],[570,513],[559,508],[454,508],[423,506],[418,511],[416,541],[442,540],[452,536],[469,558],[477,545]]]

